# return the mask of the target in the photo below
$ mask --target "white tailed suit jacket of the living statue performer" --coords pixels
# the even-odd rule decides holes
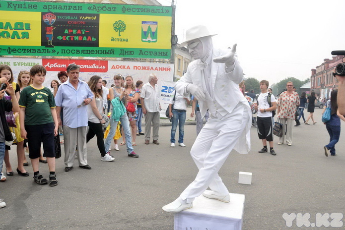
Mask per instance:
[[[212,59],[225,55],[228,51],[213,49]],[[185,97],[189,92],[186,91],[186,86],[194,84],[200,87],[204,92],[207,92],[205,79],[201,74],[201,67],[199,66],[200,60],[192,61],[187,72],[181,77],[175,84],[175,90]],[[199,71],[199,72],[198,72]],[[240,66],[237,58],[234,65],[227,68],[225,71],[224,63],[216,63],[212,61],[211,64],[211,87],[213,89],[213,97],[228,113],[231,113],[233,109],[242,103],[247,109],[248,116],[251,117],[252,113],[248,104],[248,101],[241,93],[238,84],[243,81],[243,69]],[[207,104],[203,101],[198,101],[200,112],[202,116],[205,116],[207,112]],[[246,130],[242,133],[238,143],[235,146],[235,150],[241,154],[247,154],[250,150],[250,125],[249,120]]]

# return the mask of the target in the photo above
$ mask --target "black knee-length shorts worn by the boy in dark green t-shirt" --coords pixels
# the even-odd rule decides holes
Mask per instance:
[[[54,123],[25,125],[30,159],[41,156],[41,143],[45,157],[55,157],[54,128]]]

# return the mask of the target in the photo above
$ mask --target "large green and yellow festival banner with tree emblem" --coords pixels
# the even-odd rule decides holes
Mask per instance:
[[[170,59],[172,10],[0,0],[0,55]]]

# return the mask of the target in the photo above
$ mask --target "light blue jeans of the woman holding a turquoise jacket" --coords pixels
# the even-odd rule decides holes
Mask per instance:
[[[132,146],[132,136],[131,136],[130,122],[128,121],[128,116],[127,116],[126,113],[120,117],[120,121],[121,121],[122,127],[124,128],[124,133],[125,133],[125,137],[126,137],[127,153],[131,154],[134,151],[134,149],[133,149],[133,146]],[[109,150],[111,141],[113,140],[113,138],[115,136],[117,123],[118,123],[118,121],[114,121],[114,119],[110,118],[109,134],[108,134],[107,138],[104,141],[105,151]],[[124,134],[122,134],[122,135],[124,135]]]

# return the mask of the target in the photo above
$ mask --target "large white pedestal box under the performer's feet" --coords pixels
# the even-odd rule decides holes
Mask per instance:
[[[245,196],[229,194],[229,203],[195,198],[193,208],[175,214],[174,230],[242,230]]]

